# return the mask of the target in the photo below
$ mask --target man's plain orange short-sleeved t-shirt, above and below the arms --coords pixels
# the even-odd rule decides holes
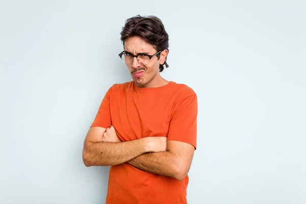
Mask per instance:
[[[115,84],[106,93],[91,126],[110,125],[121,141],[166,136],[196,147],[197,96],[188,86],[174,82],[155,88],[140,88],[134,81]],[[178,181],[129,163],[114,165],[110,168],[106,203],[187,203],[188,180],[188,175]]]

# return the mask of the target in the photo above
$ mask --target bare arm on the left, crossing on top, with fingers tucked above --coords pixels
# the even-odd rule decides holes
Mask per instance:
[[[146,137],[127,142],[109,142],[113,140],[114,127],[90,127],[83,150],[83,162],[86,166],[117,165],[140,156],[146,152],[164,151],[165,137]],[[117,137],[117,135],[116,135]]]

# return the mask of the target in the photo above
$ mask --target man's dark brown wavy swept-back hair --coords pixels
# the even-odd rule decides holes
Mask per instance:
[[[167,49],[169,52],[169,36],[164,28],[164,24],[161,19],[156,16],[134,16],[125,21],[124,27],[122,27],[122,31],[120,33],[121,41],[123,42],[127,37],[139,36],[143,38],[145,41],[153,45],[153,47],[160,51]],[[160,58],[160,54],[157,55],[158,59]],[[165,63],[160,65],[160,72],[164,70],[164,66],[166,68],[169,65],[166,62],[167,57],[165,59]]]

